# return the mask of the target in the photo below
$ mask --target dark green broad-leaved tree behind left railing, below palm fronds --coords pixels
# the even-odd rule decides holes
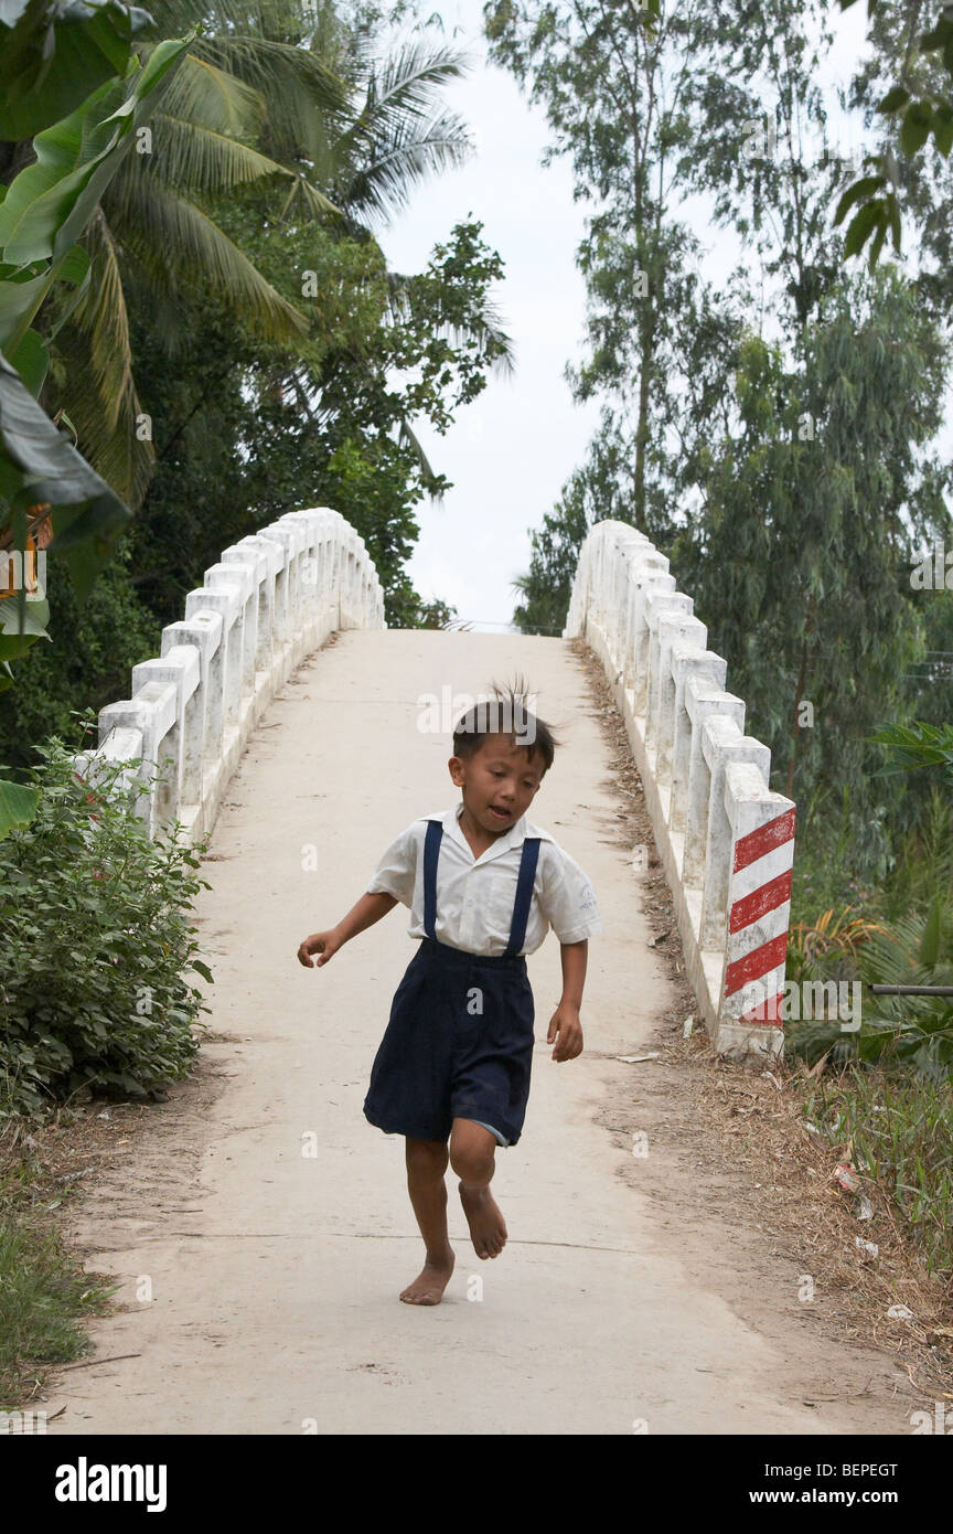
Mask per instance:
[[[420,600],[403,575],[415,503],[447,482],[414,434],[454,413],[507,365],[487,302],[503,272],[478,222],[457,225],[426,270],[400,279],[378,245],[314,224],[273,224],[248,189],[221,218],[280,291],[306,281],[306,341],[265,344],[211,302],[178,330],[139,319],[133,345],[156,472],[132,531],[133,580],[164,621],[230,542],[290,506],[334,506],[360,532],[385,588],[386,621],[414,626]]]

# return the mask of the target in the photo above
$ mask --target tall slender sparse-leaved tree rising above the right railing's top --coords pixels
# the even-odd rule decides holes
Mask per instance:
[[[628,520],[650,531],[682,379],[680,334],[697,241],[671,216],[688,150],[685,6],[602,0],[493,0],[490,55],[542,103],[544,163],[568,155],[575,196],[594,204],[578,264],[587,282],[590,360],[567,368],[578,400],[604,399],[604,430],[631,449]]]

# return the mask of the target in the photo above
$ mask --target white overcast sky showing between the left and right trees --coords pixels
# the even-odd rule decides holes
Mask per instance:
[[[431,9],[431,8],[427,8]],[[829,80],[849,74],[863,48],[866,6],[838,18]],[[539,164],[547,144],[541,107],[530,107],[510,74],[486,61],[481,0],[435,0],[444,40],[466,49],[473,67],[454,83],[446,104],[466,120],[476,153],[466,166],[420,187],[409,209],[378,233],[392,268],[420,272],[434,245],[470,215],[504,261],[492,290],[513,337],[512,379],[490,377],[484,393],[457,414],[446,436],[418,436],[454,488],[443,509],[417,508],[420,542],[408,571],[424,598],[441,597],[475,629],[503,632],[512,617],[510,581],[529,569],[529,529],[552,511],[571,469],[585,457],[598,405],[573,405],[567,359],[582,354],[585,290],[575,252],[585,204],[573,202],[571,166]],[[731,268],[728,236],[694,219],[714,268]],[[708,276],[716,270],[706,262]]]

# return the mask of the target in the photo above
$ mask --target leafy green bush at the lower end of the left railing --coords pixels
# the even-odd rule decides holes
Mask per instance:
[[[0,1117],[84,1088],[155,1098],[210,1011],[185,979],[211,980],[188,920],[204,844],[150,841],[120,764],[93,792],[58,736],[38,752],[37,818],[0,841]]]

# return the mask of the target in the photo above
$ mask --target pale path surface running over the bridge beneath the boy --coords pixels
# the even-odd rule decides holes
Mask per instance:
[[[417,730],[417,698],[478,693],[513,667],[570,724],[533,819],[585,867],[605,922],[587,1051],[558,1066],[542,1042],[559,994],[550,934],[530,959],[526,1132],[493,1183],[510,1243],[481,1262],[450,1192],[457,1272],[440,1307],[409,1307],[397,1295],[420,1238],[403,1141],[362,1114],[412,954],[408,911],[323,969],[294,953],[354,904],[397,830],[457,798],[449,742]],[[679,1026],[683,1006],[648,948],[625,810],[585,664],[561,640],[345,632],[299,669],[204,865],[213,1037],[169,1103],[110,1111],[126,1154],[72,1213],[87,1266],[123,1281],[115,1313],[90,1322],[98,1353],[138,1356],[55,1378],[47,1411],[66,1411],[51,1434],[910,1431],[890,1353],[811,1322],[798,1264],[726,1197],[748,1174],[711,1164],[663,1074],[614,1058]],[[637,1129],[648,1158],[631,1154]]]

